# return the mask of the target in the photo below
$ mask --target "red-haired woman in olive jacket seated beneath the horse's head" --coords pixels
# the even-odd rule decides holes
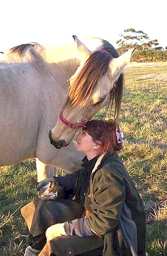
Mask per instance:
[[[52,177],[41,181],[37,189],[41,199],[58,199],[61,195],[66,195],[66,191],[74,191],[74,197],[80,200],[86,209],[86,217],[80,215],[77,218],[69,218],[69,220],[66,218],[65,221],[59,221],[59,223],[56,219],[55,222],[50,222],[57,223],[54,225],[47,223],[43,232],[41,229],[41,235],[36,236],[36,239],[31,235],[32,242],[25,255],[38,255],[39,253],[39,255],[50,255],[51,252],[55,253],[52,255],[65,255],[60,253],[63,248],[59,252],[54,251],[57,250],[54,249],[54,243],[58,240],[59,244],[63,241],[67,242],[70,237],[80,239],[75,240],[73,247],[75,244],[77,246],[77,243],[82,244],[82,241],[87,239],[85,251],[90,251],[89,255],[145,255],[145,210],[139,193],[116,152],[122,149],[122,138],[117,124],[111,121],[90,120],[86,122],[85,129],[78,134],[77,144],[77,150],[86,154],[82,169],[64,177]],[[60,201],[41,200],[41,202],[42,207],[40,205],[35,209],[38,215],[39,209],[41,212],[47,202],[58,203]],[[26,207],[26,212],[27,209]],[[24,218],[26,220],[25,216]],[[50,218],[49,214],[47,217],[44,215],[41,222],[46,218],[47,220]],[[37,218],[32,225],[34,227],[40,226],[36,220]],[[31,231],[31,228],[29,230]],[[96,246],[93,245],[93,239],[96,241]],[[37,247],[37,243],[42,246]],[[103,252],[100,247],[101,243],[103,243]],[[58,243],[55,247],[57,246]],[[95,250],[96,253],[94,251],[91,254],[91,250],[96,247],[98,247]],[[28,254],[29,250],[34,254]],[[68,255],[79,254],[76,252],[72,248]],[[83,253],[83,250],[80,253]]]

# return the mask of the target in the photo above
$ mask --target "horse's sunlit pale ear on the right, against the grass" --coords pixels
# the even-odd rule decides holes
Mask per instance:
[[[129,49],[126,53],[122,54],[121,56],[113,58],[113,60],[109,64],[112,77],[117,78],[117,76],[119,76],[123,72],[126,65],[130,62],[134,50],[135,48]]]

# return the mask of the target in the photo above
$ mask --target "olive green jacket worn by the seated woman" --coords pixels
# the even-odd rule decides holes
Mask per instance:
[[[83,171],[78,172],[78,177],[76,175],[80,194],[85,180]],[[97,169],[90,175],[90,184],[83,193],[83,203],[91,211],[88,217],[89,227],[97,235],[104,236],[104,242],[111,242],[110,245],[107,243],[107,247],[111,246],[110,252],[105,255],[115,255],[114,251],[122,251],[122,247],[128,248],[120,225],[123,206],[126,204],[136,225],[138,255],[145,255],[145,210],[141,197],[117,153],[105,153]],[[114,246],[115,240],[117,246]],[[123,255],[131,254],[127,251]]]

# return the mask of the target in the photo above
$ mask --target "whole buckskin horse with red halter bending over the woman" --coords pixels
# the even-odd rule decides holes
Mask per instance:
[[[60,120],[78,128],[74,122],[108,103],[119,114],[123,70],[134,49],[119,56],[104,39],[87,36],[85,42],[94,43],[90,50],[73,38],[56,46],[22,44],[0,57],[0,165],[36,158],[38,181],[54,175],[53,166],[68,173],[81,166],[76,130]]]

